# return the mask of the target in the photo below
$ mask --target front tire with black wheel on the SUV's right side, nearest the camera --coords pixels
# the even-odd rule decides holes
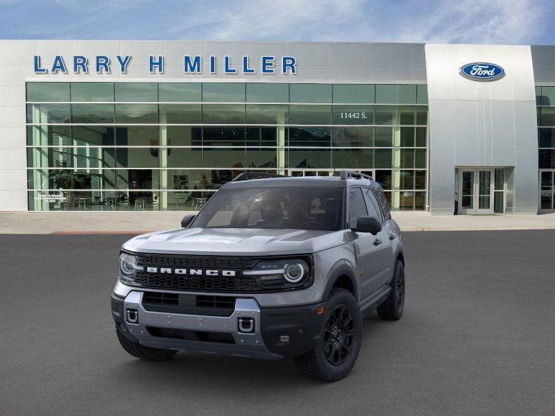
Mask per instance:
[[[295,362],[312,379],[339,381],[355,365],[362,339],[362,316],[352,293],[332,291],[320,333],[316,348],[294,358]]]

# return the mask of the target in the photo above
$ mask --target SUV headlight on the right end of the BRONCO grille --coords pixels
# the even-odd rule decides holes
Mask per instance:
[[[308,263],[301,259],[264,260],[243,275],[253,276],[264,288],[298,288],[311,283]]]

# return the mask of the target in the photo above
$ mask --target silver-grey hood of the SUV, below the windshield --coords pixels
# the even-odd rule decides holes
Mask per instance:
[[[178,228],[136,236],[124,243],[123,249],[167,254],[272,256],[310,254],[346,241],[344,230]]]

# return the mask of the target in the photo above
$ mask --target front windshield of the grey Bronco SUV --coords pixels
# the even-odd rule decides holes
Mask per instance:
[[[273,187],[221,189],[191,227],[341,229],[343,189]]]

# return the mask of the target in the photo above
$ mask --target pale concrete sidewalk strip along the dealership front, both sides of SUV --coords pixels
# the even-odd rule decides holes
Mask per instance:
[[[141,234],[180,227],[187,211],[0,212],[0,234]],[[555,229],[555,214],[506,216],[431,216],[393,212],[402,231],[477,229]]]

